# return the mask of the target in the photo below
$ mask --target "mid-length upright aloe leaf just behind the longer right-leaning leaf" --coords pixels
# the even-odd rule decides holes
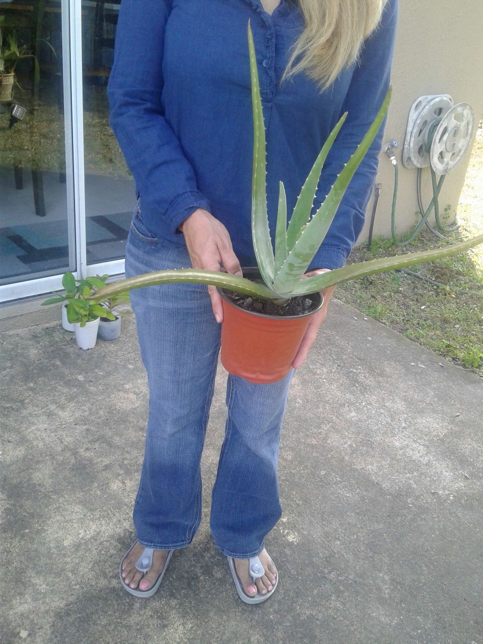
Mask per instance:
[[[347,112],[345,112],[341,116],[341,118],[339,118],[336,126],[328,136],[327,141],[321,149],[319,156],[317,156],[316,161],[312,166],[312,170],[310,170],[310,173],[305,180],[305,184],[303,184],[303,187],[300,191],[294,212],[292,214],[292,217],[290,218],[289,228],[287,229],[287,245],[290,251],[298,240],[303,227],[310,220],[310,211],[312,211],[314,199],[316,198],[317,185],[319,185],[322,168],[324,166],[330,148],[334,144],[337,134],[343,126],[346,118]]]

